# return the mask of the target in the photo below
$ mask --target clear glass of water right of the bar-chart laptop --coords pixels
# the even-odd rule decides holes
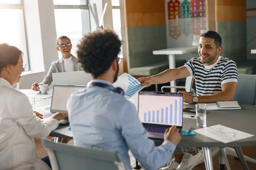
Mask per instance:
[[[196,125],[198,127],[206,127],[206,104],[199,103],[195,105]]]

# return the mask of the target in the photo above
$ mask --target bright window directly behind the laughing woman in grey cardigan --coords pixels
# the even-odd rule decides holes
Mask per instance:
[[[90,32],[87,0],[53,0],[57,37],[66,35],[72,43],[71,54],[76,56],[81,38]],[[58,57],[62,55],[59,52]]]

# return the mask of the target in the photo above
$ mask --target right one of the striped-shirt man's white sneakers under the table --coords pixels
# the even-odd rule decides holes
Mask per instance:
[[[193,167],[198,165],[202,159],[204,159],[204,154],[198,148],[198,154],[193,156],[191,153],[186,153],[183,156],[180,165],[177,167],[177,170],[192,170]]]

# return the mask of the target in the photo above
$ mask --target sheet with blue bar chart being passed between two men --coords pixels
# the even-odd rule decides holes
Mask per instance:
[[[126,99],[130,99],[145,87],[140,85],[140,82],[137,79],[127,73],[119,76],[116,82],[113,83],[113,86],[122,88],[125,91]]]

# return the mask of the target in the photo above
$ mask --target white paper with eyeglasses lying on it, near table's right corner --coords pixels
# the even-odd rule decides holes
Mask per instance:
[[[238,141],[241,139],[250,138],[254,136],[252,134],[244,133],[242,131],[232,129],[230,127],[226,127],[222,125],[204,127],[201,129],[194,130],[194,132],[223,143]]]

